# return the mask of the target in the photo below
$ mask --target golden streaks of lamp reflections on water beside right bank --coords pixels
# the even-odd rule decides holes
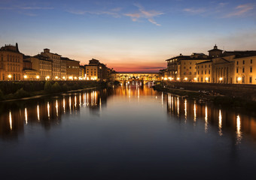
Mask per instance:
[[[234,110],[219,109],[213,104],[187,101],[175,95],[166,95],[166,104],[168,114],[172,117],[184,118],[185,123],[189,120],[194,126],[199,126],[203,122],[205,133],[214,132],[218,136],[231,133],[236,137],[236,144],[242,142],[245,133],[256,139],[256,118],[253,116],[241,113],[237,115]],[[180,109],[183,111],[180,112]]]

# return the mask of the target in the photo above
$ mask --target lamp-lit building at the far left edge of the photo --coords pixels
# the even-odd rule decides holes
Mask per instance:
[[[0,80],[23,80],[23,54],[17,43],[0,49]]]

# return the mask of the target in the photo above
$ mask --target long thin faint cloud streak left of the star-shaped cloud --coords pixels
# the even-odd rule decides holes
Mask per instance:
[[[68,10],[69,13],[78,14],[78,15],[84,15],[84,14],[95,14],[95,15],[109,15],[112,17],[120,17],[119,11],[121,10],[120,7],[111,9],[111,10]]]

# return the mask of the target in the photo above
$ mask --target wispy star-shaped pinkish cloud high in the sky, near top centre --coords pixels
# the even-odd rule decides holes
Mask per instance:
[[[163,14],[162,12],[159,12],[156,10],[145,10],[145,8],[142,7],[142,5],[138,5],[138,4],[135,4],[135,6],[139,8],[139,12],[124,13],[123,15],[126,17],[130,17],[134,22],[138,21],[141,18],[144,18],[156,26],[161,26],[154,20],[154,17],[158,17],[158,16],[162,15]]]

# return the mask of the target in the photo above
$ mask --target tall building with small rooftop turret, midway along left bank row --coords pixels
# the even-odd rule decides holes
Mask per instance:
[[[52,62],[50,80],[60,80],[60,75],[61,75],[60,57],[61,57],[61,55],[52,53],[52,52],[50,52],[50,49],[47,49],[47,48],[44,49],[44,52],[41,52],[41,55],[43,55],[45,58],[49,58],[50,61]]]

